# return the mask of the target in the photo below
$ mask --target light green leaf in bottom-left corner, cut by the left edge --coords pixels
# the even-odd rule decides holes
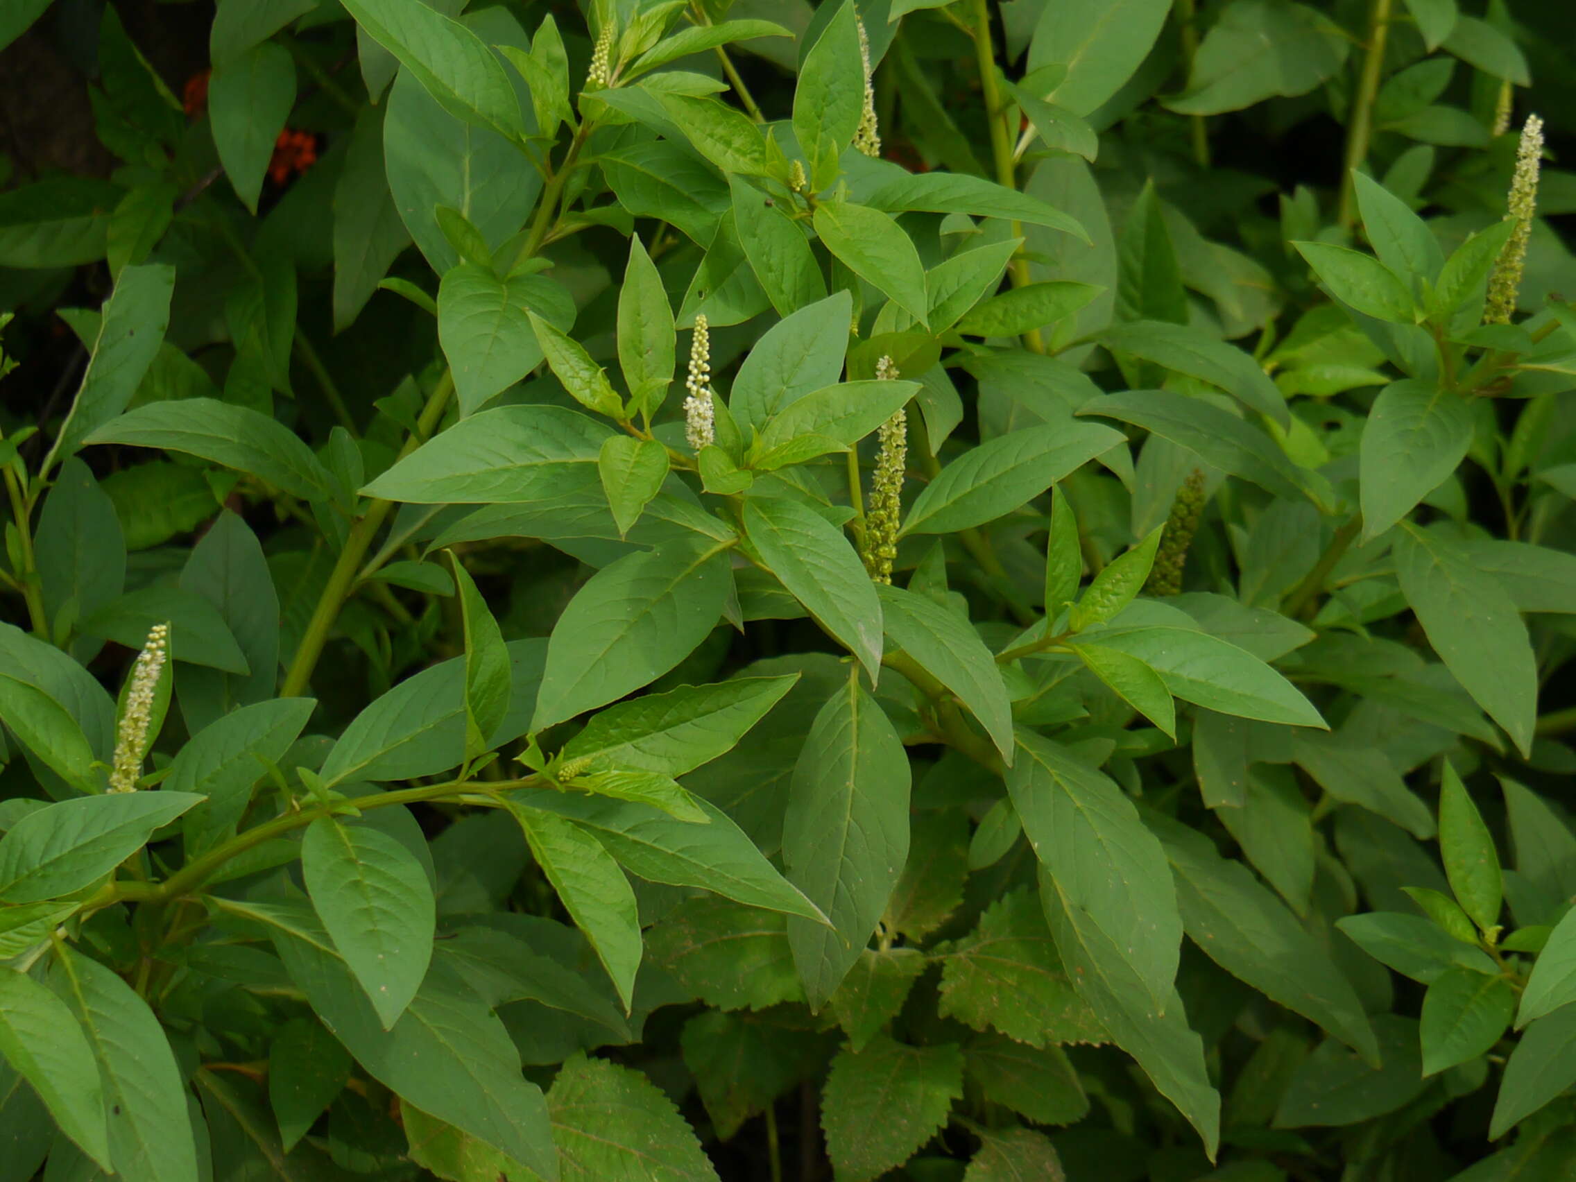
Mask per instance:
[[[76,1017],[25,972],[0,971],[0,1054],[25,1078],[60,1130],[112,1169],[98,1062]]]

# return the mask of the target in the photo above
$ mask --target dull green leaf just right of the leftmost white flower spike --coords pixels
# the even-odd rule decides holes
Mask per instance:
[[[186,853],[199,853],[235,832],[252,785],[277,764],[306,728],[314,698],[274,698],[241,706],[203,727],[170,761],[164,793],[205,797],[183,821]]]

